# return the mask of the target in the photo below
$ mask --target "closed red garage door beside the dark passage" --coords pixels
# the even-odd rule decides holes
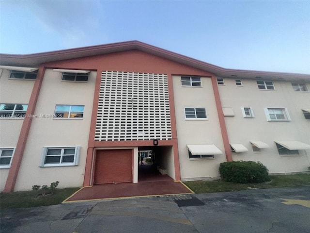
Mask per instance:
[[[94,184],[132,182],[132,150],[97,150]]]

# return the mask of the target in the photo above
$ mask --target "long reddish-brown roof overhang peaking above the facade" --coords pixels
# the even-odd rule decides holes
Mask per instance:
[[[61,61],[67,59],[75,59],[81,57],[102,55],[108,53],[122,52],[128,50],[140,50],[146,53],[153,54],[168,60],[184,64],[190,67],[195,67],[209,73],[213,73],[218,77],[226,78],[247,78],[259,80],[290,80],[290,81],[305,81],[310,80],[310,74],[296,74],[296,73],[283,73],[283,72],[268,72],[256,70],[241,70],[241,69],[228,69],[218,67],[206,62],[202,62],[169,50],[164,50],[140,41],[127,41],[112,43],[106,45],[97,45],[90,47],[81,47],[68,50],[57,50],[51,52],[41,52],[26,55],[15,54],[0,54],[0,65],[4,66],[24,66],[24,67],[37,67],[40,64]]]

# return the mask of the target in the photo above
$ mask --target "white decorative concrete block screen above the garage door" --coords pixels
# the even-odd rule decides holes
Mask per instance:
[[[102,72],[96,141],[171,138],[167,75]]]

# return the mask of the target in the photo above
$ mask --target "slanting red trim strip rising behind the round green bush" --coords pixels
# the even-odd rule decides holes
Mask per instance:
[[[228,162],[231,162],[233,161],[233,155],[232,155],[231,146],[229,145],[228,133],[227,133],[225,118],[224,118],[224,114],[222,110],[222,103],[221,103],[220,95],[218,92],[217,77],[212,75],[211,82],[212,82],[215,102],[217,105],[217,115],[218,115],[218,121],[219,121],[220,129],[221,129],[221,133],[222,133],[226,160]]]

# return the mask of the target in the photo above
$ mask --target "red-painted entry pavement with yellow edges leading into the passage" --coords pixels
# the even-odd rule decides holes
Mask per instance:
[[[152,170],[152,165],[140,165],[138,183],[95,184],[83,187],[63,202],[118,199],[143,196],[192,194],[182,182]]]

